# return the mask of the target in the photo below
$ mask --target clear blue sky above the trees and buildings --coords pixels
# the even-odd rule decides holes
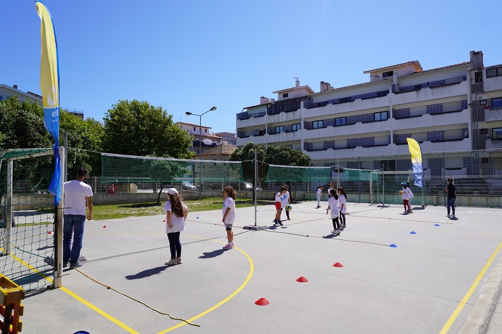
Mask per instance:
[[[101,120],[119,99],[162,105],[175,121],[233,131],[235,114],[292,87],[369,81],[365,70],[502,63],[499,0],[45,0],[59,47],[60,102]],[[32,0],[0,3],[0,83],[40,93],[40,19]],[[277,94],[276,94],[277,95]]]

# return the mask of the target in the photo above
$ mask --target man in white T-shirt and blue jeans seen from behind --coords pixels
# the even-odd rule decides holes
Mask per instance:
[[[81,167],[76,179],[64,184],[63,267],[68,263],[70,268],[82,266],[78,258],[84,237],[86,201],[89,210],[87,219],[92,219],[92,188],[84,183],[88,173],[85,167]],[[73,245],[70,247],[72,236]]]

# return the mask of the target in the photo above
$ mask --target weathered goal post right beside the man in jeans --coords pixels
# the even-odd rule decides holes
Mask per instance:
[[[59,158],[66,162],[65,148],[59,147]],[[66,164],[66,163],[65,163]],[[61,172],[64,173],[64,166],[61,165]],[[63,277],[63,202],[64,202],[64,180],[61,178],[61,200],[56,207],[56,233],[54,235],[54,287],[62,286]]]

